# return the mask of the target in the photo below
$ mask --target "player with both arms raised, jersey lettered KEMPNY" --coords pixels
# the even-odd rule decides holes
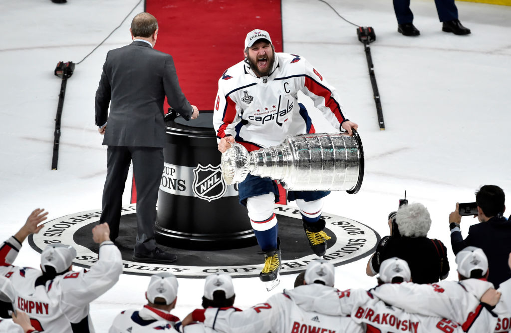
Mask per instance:
[[[48,245],[41,253],[41,271],[12,263],[23,241],[42,229],[44,209],[34,210],[24,226],[0,249],[0,275],[10,279],[17,296],[14,305],[27,312],[32,326],[52,333],[94,332],[89,303],[119,280],[122,259],[110,241],[108,224],[92,228],[94,242],[100,244],[99,259],[89,271],[72,271],[76,250],[61,243]]]

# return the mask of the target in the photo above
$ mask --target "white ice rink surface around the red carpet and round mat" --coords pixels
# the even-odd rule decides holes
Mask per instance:
[[[428,207],[433,220],[429,237],[446,244],[449,279],[454,280],[448,215],[455,203],[475,201],[474,192],[484,184],[499,185],[511,197],[511,7],[457,2],[459,18],[472,34],[456,36],[441,31],[433,1],[415,0],[414,24],[421,35],[405,37],[397,32],[390,0],[329,3],[346,19],[376,32],[371,54],[385,130],[378,126],[356,28],[319,1],[283,0],[284,52],[304,56],[337,87],[346,115],[360,126],[364,144],[362,189],[355,195],[331,194],[323,210],[360,221],[385,236],[387,214],[397,209],[407,190],[410,203]],[[47,209],[49,219],[101,208],[106,147],[94,124],[94,96],[107,51],[131,41],[129,24],[143,5],[77,65],[68,80],[57,171],[51,170],[51,158],[61,80],[53,71],[59,60],[80,61],[135,4],[126,0],[0,3],[4,40],[0,47],[2,239],[14,234],[37,207]],[[193,20],[193,13],[184,19]],[[215,61],[222,54],[216,50],[210,56]],[[314,120],[318,132],[332,131],[321,118]],[[129,191],[123,200],[129,203]],[[504,215],[509,214],[508,209]],[[463,218],[464,235],[475,222]],[[16,263],[38,267],[39,254],[26,242]],[[365,275],[366,263],[364,258],[337,267],[336,286],[374,286],[376,279]],[[292,287],[294,278],[282,276],[281,284],[271,292],[266,292],[258,278],[235,279],[235,304],[246,308],[264,301]],[[96,331],[107,332],[120,310],[145,304],[148,281],[148,277],[123,274],[93,302],[90,312]],[[177,307],[172,313],[184,318],[200,307],[202,290],[201,279],[179,279]]]

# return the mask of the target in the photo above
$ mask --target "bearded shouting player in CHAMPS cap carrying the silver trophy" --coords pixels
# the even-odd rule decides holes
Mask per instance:
[[[275,53],[268,32],[250,31],[245,38],[245,59],[227,69],[218,80],[213,126],[218,150],[233,142],[248,151],[280,144],[287,136],[314,133],[298,92],[311,98],[323,116],[339,130],[352,135],[358,125],[346,119],[334,87],[304,57]],[[250,224],[265,256],[261,281],[277,281],[281,250],[277,240],[277,219],[273,213],[278,189],[269,178],[248,174],[238,185],[240,203],[247,207]],[[289,191],[296,201],[309,245],[323,256],[330,237],[322,230],[323,198],[330,192]],[[278,282],[276,282],[278,283]],[[273,283],[269,288],[276,285]]]

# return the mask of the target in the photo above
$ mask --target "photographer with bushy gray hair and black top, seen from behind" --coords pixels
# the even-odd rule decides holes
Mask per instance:
[[[410,267],[415,283],[434,283],[449,275],[447,249],[438,239],[427,237],[431,217],[424,205],[400,201],[397,212],[388,216],[390,235],[382,238],[376,253],[367,262],[366,273],[375,276],[383,260],[398,257]]]

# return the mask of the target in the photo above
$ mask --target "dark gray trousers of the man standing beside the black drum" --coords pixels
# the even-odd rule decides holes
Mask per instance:
[[[122,198],[131,161],[133,161],[136,184],[138,228],[134,252],[147,253],[156,247],[154,223],[158,188],[164,168],[162,148],[108,146],[103,212],[100,222],[108,223],[111,239],[119,236]]]

